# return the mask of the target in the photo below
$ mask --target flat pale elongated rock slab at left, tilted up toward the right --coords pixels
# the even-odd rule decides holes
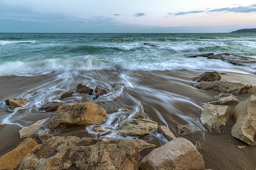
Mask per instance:
[[[32,133],[34,133],[36,130],[38,130],[39,128],[41,128],[43,126],[43,124],[48,120],[49,118],[45,118],[43,120],[39,120],[37,122],[35,122],[35,124],[32,124],[30,126],[26,126],[22,129],[19,130],[19,138],[25,138],[29,135],[31,135]]]

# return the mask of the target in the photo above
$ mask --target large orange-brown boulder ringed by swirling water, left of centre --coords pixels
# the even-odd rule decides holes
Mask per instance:
[[[50,128],[59,129],[73,125],[99,125],[106,120],[106,111],[95,103],[62,105],[52,117]]]

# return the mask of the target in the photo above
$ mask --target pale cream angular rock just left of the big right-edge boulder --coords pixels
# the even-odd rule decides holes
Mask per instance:
[[[219,127],[221,125],[225,126],[230,117],[231,108],[229,106],[207,104],[200,119],[211,132],[221,133]]]

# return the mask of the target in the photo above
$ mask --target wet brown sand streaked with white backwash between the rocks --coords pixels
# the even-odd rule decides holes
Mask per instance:
[[[60,78],[58,74],[40,75],[35,77],[2,76],[0,78],[0,118],[9,121],[12,125],[6,125],[0,130],[0,156],[15,148],[23,139],[19,139],[18,130],[22,126],[28,126],[43,118],[52,117],[55,112],[39,112],[40,105],[49,101],[60,101],[59,97],[65,91],[73,91],[77,84],[84,83],[95,88],[97,84],[112,88],[110,83],[130,83],[131,86],[112,88],[112,96],[100,97],[93,100],[93,96],[74,95],[62,100],[65,104],[78,102],[95,102],[104,107],[108,113],[118,108],[131,108],[133,112],[120,112],[113,121],[113,126],[119,121],[129,118],[130,114],[144,114],[161,125],[167,125],[176,137],[183,137],[193,144],[200,141],[203,144],[201,155],[205,161],[205,167],[210,169],[255,169],[256,148],[233,138],[231,127],[234,121],[230,120],[226,126],[221,126],[221,134],[210,133],[206,126],[201,124],[200,116],[203,107],[209,101],[216,100],[217,92],[199,90],[192,87],[195,82],[192,78],[204,73],[199,71],[94,71],[74,74]],[[253,84],[256,89],[256,76],[230,72],[220,72],[222,80],[241,81]],[[125,79],[123,79],[123,75]],[[31,105],[11,111],[4,100],[10,97],[26,96]],[[250,94],[237,96],[238,100],[246,100]],[[43,100],[43,101],[40,101]],[[6,118],[7,114],[12,114]],[[16,124],[16,125],[14,125]],[[190,133],[188,135],[177,134],[177,125],[199,126],[203,132]],[[41,128],[49,129],[49,120]],[[113,130],[116,130],[113,128]],[[90,134],[85,127],[70,127],[56,131],[55,135],[76,135],[77,137],[100,137],[99,134]],[[104,134],[102,134],[104,135]],[[105,134],[106,135],[106,134]],[[165,141],[156,135],[140,137],[145,141],[162,145]],[[241,150],[236,145],[246,146]],[[147,148],[141,152],[143,158],[153,148]]]

